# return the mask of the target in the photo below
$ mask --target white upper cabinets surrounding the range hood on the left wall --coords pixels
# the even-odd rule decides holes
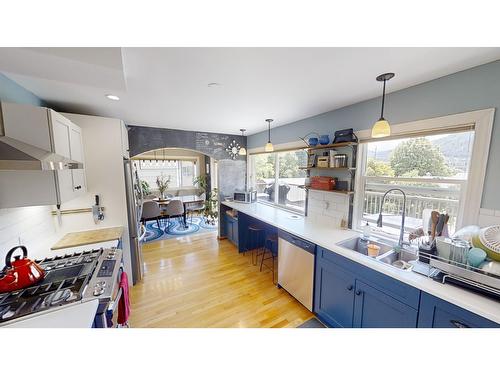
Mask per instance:
[[[8,136],[80,162],[85,167],[82,129],[51,109],[2,103]],[[61,204],[87,190],[85,169],[0,170],[0,208]]]

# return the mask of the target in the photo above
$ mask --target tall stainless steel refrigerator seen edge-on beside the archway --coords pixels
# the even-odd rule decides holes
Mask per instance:
[[[132,263],[132,283],[135,285],[142,280],[144,264],[142,259],[142,241],[146,229],[141,225],[142,216],[142,189],[137,170],[130,159],[123,161],[125,172],[125,188],[127,196],[127,214],[130,256]]]

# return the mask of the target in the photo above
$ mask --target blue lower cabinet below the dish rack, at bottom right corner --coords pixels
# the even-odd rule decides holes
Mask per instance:
[[[422,292],[418,327],[499,328],[500,325],[452,303]]]

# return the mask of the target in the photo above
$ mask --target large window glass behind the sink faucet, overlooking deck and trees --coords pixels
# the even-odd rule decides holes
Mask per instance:
[[[407,233],[427,232],[430,213],[438,211],[449,215],[452,234],[463,212],[473,144],[474,130],[361,144],[358,225],[375,225],[384,193],[399,188],[406,194]],[[390,192],[383,207],[384,232],[399,231],[402,208],[402,194]]]

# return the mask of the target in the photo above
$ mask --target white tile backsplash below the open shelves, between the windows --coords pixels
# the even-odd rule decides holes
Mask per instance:
[[[328,220],[339,227],[343,217],[349,215],[349,197],[342,193],[309,191],[307,216],[313,220]]]

